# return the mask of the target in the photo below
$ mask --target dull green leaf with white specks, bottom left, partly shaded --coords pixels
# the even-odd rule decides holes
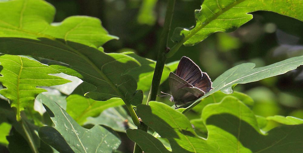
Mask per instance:
[[[91,129],[85,129],[48,97],[39,94],[37,99],[42,101],[55,124],[55,127],[39,128],[39,137],[56,150],[61,152],[72,150],[75,153],[111,153],[120,145],[118,135],[110,128],[97,125]]]

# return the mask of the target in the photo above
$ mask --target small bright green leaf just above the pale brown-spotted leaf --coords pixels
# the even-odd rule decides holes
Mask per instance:
[[[66,112],[80,125],[85,123],[89,116],[98,116],[109,107],[123,105],[121,98],[111,98],[106,101],[97,101],[88,97],[72,94],[66,98]]]

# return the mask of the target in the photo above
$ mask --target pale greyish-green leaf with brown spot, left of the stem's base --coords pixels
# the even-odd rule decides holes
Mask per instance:
[[[108,108],[97,117],[88,117],[85,124],[106,125],[119,132],[125,132],[128,128],[137,128],[132,122],[132,118],[121,106]]]

